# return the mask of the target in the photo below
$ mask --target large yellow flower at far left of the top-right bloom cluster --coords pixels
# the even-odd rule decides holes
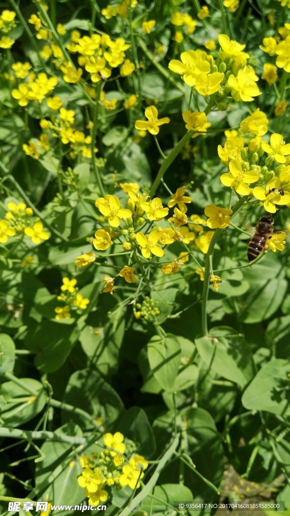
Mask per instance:
[[[181,61],[172,59],[168,68],[172,72],[180,74],[188,86],[195,86],[200,73],[208,74],[211,71],[207,55],[201,50],[182,52],[180,57]]]

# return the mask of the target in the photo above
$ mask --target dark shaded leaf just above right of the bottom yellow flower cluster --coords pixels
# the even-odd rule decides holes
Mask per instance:
[[[131,407],[122,412],[115,423],[115,428],[137,444],[139,454],[149,458],[155,453],[154,433],[143,409]]]

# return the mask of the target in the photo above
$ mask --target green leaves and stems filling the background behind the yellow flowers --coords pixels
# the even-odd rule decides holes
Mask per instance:
[[[18,13],[13,58],[31,60],[40,72],[40,43],[34,37],[31,43],[20,16],[27,20],[37,4],[10,2],[9,8]],[[101,14],[105,2],[91,0],[80,5],[50,0],[48,4],[54,25],[62,23],[68,30],[84,31],[94,27],[112,39],[122,36],[130,41],[124,20],[106,20]],[[225,23],[232,39],[246,43],[251,63],[261,76],[266,57],[259,44],[287,21],[287,7],[276,0],[242,1],[238,11],[231,14],[222,2],[206,4],[210,17],[199,22],[183,48],[199,48],[215,38]],[[0,5],[7,8],[7,2]],[[142,65],[140,74],[119,78],[121,91],[116,80],[105,85],[108,98],[119,102],[116,110],[101,108],[96,126],[97,157],[105,159],[101,178],[105,192],[111,195],[116,192],[116,173],[118,183],[138,182],[141,190],[149,191],[163,162],[153,137],[138,139],[134,130],[135,120],[143,117],[141,103],[143,107],[156,103],[160,116],[170,117],[170,124],[158,135],[165,155],[185,134],[181,112],[188,108],[190,88],[168,72],[169,60],[178,59],[181,52],[170,25],[171,14],[178,9],[196,18],[199,4],[139,2],[132,26]],[[267,19],[271,10],[275,11],[275,27],[270,27]],[[146,16],[156,20],[150,35],[138,31],[140,20]],[[158,43],[164,46],[165,55],[155,52]],[[3,73],[9,69],[8,52],[3,52],[1,66]],[[144,486],[135,493],[131,505],[131,490],[112,489],[108,515],[144,511],[175,514],[173,503],[179,500],[263,500],[263,490],[268,490],[266,499],[285,501],[289,507],[288,250],[269,252],[249,268],[249,237],[234,228],[222,232],[214,269],[223,283],[217,293],[210,291],[207,300],[208,335],[203,335],[201,328],[203,284],[191,261],[176,277],[156,269],[150,277],[152,291],[143,286],[137,299],[136,287],[121,278],[116,281],[114,295],[100,294],[104,276],[116,276],[126,262],[122,255],[111,256],[123,252],[121,245],[114,244],[102,255],[98,253],[94,264],[82,269],[73,264],[77,256],[93,250],[86,239],[96,231],[94,202],[102,192],[91,161],[78,157],[73,162],[66,154],[59,162],[58,151],[53,148],[38,160],[26,156],[22,145],[39,136],[39,119],[45,116],[45,107],[42,114],[33,104],[27,109],[19,107],[3,73],[0,215],[4,218],[9,201],[32,205],[51,238],[40,246],[22,243],[14,248],[12,240],[1,245],[2,513],[7,514],[7,501],[12,497],[39,500],[48,495],[54,504],[84,501],[84,490],[77,484],[81,472],[78,458],[96,449],[94,443],[105,431],[122,432],[137,444],[138,453],[152,461]],[[262,95],[257,106],[268,116],[279,97],[265,81],[260,80],[259,86]],[[124,95],[136,90],[141,91],[140,104],[125,111],[121,102]],[[78,128],[84,130],[93,118],[94,103],[77,85],[68,86],[63,81],[54,94],[68,109],[75,110]],[[205,106],[201,98],[200,110]],[[191,153],[189,159],[183,159],[179,154],[167,170],[165,180],[172,191],[194,182],[190,213],[202,216],[207,204],[227,205],[229,191],[220,183],[224,167],[217,145],[223,141],[223,131],[237,127],[247,114],[248,105],[235,102],[228,110],[209,115],[211,131],[194,140],[198,155]],[[284,139],[289,141],[287,111],[282,122]],[[271,123],[272,132],[279,132],[277,119]],[[77,184],[75,188],[62,184],[60,191],[59,171],[68,167],[76,174]],[[127,197],[120,188],[118,196],[125,205]],[[163,185],[158,196],[166,204],[168,193]],[[247,225],[254,225],[264,214],[261,210],[260,206],[245,206],[235,223],[247,230]],[[282,230],[288,221],[288,208],[283,206],[275,216],[275,227]],[[167,261],[181,251],[184,247],[175,242],[166,250]],[[195,252],[204,261],[202,252]],[[27,254],[35,259],[29,269],[20,266]],[[57,321],[56,296],[64,276],[76,277],[79,293],[90,302],[81,315]],[[160,313],[155,324],[134,317],[130,303],[140,302],[146,295],[158,302]],[[227,487],[225,471],[232,472]],[[239,483],[239,477],[246,485]],[[61,512],[66,513],[77,514]],[[199,509],[194,514],[208,513]]]

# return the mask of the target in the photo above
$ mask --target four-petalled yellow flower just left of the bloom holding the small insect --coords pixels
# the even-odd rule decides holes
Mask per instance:
[[[249,184],[255,183],[259,179],[259,174],[255,170],[243,170],[237,159],[232,159],[229,163],[230,172],[222,174],[220,180],[224,186],[230,186],[239,195],[249,195]]]

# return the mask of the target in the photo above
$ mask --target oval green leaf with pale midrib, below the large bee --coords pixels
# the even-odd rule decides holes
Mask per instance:
[[[268,319],[280,307],[288,283],[283,278],[260,281],[240,301],[239,318],[247,323]]]

